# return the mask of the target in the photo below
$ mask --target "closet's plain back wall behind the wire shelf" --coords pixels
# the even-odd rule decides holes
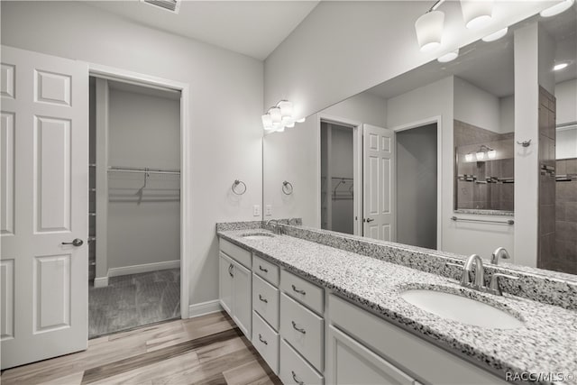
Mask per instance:
[[[109,165],[179,169],[180,100],[109,92]],[[139,200],[144,174],[109,173],[108,269],[180,259],[179,180],[152,173]]]

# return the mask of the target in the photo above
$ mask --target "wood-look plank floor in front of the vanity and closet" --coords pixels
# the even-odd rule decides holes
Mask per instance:
[[[41,348],[41,347],[39,347]],[[143,326],[2,372],[9,384],[280,384],[225,313]]]

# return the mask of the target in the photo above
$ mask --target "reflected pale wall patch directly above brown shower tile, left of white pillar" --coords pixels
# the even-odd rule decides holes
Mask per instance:
[[[454,118],[501,133],[499,97],[454,77]]]

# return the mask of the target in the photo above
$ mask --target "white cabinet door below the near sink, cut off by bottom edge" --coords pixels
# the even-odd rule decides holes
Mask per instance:
[[[327,382],[331,384],[416,384],[379,355],[329,326]]]

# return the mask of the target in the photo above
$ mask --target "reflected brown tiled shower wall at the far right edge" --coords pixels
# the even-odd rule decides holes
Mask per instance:
[[[577,159],[557,160],[556,163],[556,255],[549,269],[577,274]]]

